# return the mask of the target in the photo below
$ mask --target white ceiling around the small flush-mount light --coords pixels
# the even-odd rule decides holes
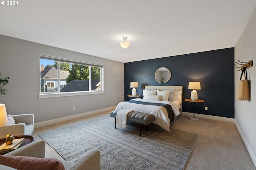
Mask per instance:
[[[0,34],[126,63],[234,47],[255,6],[256,0],[19,0],[0,6]]]

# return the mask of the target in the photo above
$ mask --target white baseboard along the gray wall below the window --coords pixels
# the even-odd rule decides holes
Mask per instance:
[[[105,111],[110,111],[110,110],[114,110],[114,109],[116,109],[116,106],[108,107],[108,108],[104,108],[104,109],[99,109],[99,110],[96,110],[96,111],[90,111],[90,112],[86,112],[86,113],[80,113],[80,114],[77,114],[77,115],[61,117],[61,118],[58,118],[58,119],[52,119],[52,120],[49,120],[49,121],[39,122],[39,123],[34,124],[34,128],[43,127],[43,126],[47,126],[47,125],[52,125],[54,123],[69,121],[71,119],[76,119],[76,118],[80,118],[80,117],[84,117],[84,116],[88,116],[88,115],[93,115],[93,114],[101,113],[101,112],[105,112]]]

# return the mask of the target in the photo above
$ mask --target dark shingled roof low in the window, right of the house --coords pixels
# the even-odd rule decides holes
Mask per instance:
[[[100,80],[92,80],[92,90],[99,89]],[[72,80],[60,92],[89,91],[89,80]]]

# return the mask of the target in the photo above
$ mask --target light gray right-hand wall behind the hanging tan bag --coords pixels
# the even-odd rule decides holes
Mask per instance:
[[[235,46],[235,61],[237,60],[242,62],[254,60],[254,65],[247,69],[251,99],[250,101],[235,99],[235,121],[244,144],[256,166],[256,8]],[[240,75],[241,71],[235,71],[235,95]]]

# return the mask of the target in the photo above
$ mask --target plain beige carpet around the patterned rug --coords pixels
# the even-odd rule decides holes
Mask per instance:
[[[38,140],[41,139],[38,134],[73,123],[80,123],[84,120],[102,117],[109,113],[110,111],[36,128],[33,135]],[[188,117],[182,116],[172,125],[172,128],[200,134],[185,170],[256,170],[234,123],[209,119],[191,121]],[[46,157],[63,159],[48,145],[46,146]]]

